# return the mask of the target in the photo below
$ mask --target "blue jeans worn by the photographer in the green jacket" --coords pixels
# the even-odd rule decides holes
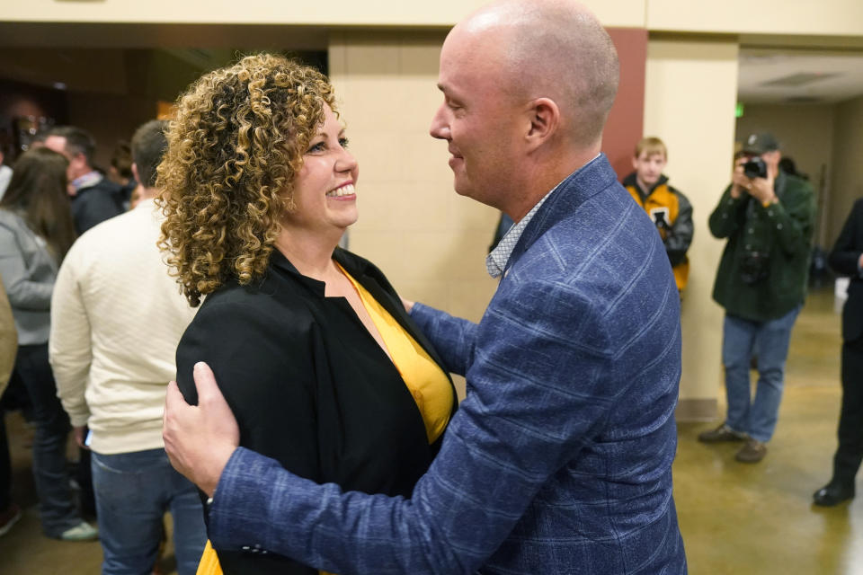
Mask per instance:
[[[785,360],[791,328],[800,308],[767,322],[752,322],[725,314],[722,338],[722,363],[725,366],[725,394],[728,414],[725,424],[759,441],[770,441],[776,429],[779,402],[785,376]],[[755,399],[749,370],[752,353],[758,356],[758,385]]]

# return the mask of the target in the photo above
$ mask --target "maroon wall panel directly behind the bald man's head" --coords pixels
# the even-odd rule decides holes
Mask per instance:
[[[632,172],[632,154],[645,127],[647,31],[640,28],[609,28],[608,31],[620,58],[620,87],[605,125],[602,151],[609,156],[618,177],[623,179]]]

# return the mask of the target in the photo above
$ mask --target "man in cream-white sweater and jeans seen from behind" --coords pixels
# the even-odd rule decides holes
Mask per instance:
[[[162,412],[174,354],[195,310],[168,275],[156,242],[156,166],[165,123],[138,128],[132,170],[138,206],[83,234],[51,301],[49,354],[78,444],[93,450],[102,573],[149,572],[173,516],[177,571],[196,571],[206,542],[200,499],[165,456]]]

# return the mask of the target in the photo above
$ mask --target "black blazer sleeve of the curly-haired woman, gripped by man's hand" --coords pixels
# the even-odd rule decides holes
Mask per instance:
[[[192,368],[204,361],[234,411],[240,445],[317,479],[314,334],[259,305],[210,304],[204,302],[177,347],[177,384],[186,401],[198,403]]]

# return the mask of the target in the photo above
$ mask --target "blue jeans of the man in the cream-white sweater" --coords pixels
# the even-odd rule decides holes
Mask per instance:
[[[170,509],[180,575],[194,575],[207,542],[195,486],[173,470],[165,449],[112,456],[93,452],[93,490],[102,541],[103,575],[148,575]]]

